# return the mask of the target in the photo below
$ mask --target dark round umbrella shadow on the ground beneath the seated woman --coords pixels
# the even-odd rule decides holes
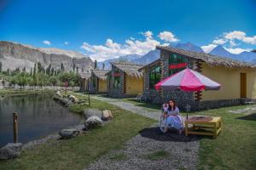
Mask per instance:
[[[176,131],[168,131],[167,133],[162,133],[160,127],[148,127],[144,128],[139,132],[142,137],[148,139],[154,139],[159,141],[174,141],[174,142],[192,142],[200,140],[201,138],[208,137],[198,137],[198,136],[188,136],[184,134],[178,134]]]

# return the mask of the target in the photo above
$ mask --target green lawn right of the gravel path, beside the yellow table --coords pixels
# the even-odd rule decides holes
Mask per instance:
[[[256,112],[250,116],[228,111],[256,105],[225,107],[192,114],[221,116],[224,127],[217,139],[200,140],[198,169],[255,169]]]

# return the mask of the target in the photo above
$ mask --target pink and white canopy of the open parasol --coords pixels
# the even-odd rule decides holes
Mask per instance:
[[[218,82],[212,81],[210,78],[201,75],[200,73],[193,71],[189,68],[177,72],[171,77],[167,77],[161,82],[154,85],[156,90],[160,88],[166,90],[183,91],[201,91],[201,90],[218,90],[221,85]]]

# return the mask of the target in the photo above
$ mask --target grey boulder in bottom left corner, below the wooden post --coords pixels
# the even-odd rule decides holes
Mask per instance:
[[[3,146],[3,148],[0,149],[0,160],[13,159],[17,156],[20,156],[21,149],[21,143],[6,144]]]

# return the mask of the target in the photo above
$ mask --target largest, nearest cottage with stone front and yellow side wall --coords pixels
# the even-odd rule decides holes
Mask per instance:
[[[157,46],[157,49],[160,50],[160,59],[139,70],[143,72],[144,77],[143,100],[161,103],[176,99],[182,109],[189,103],[192,110],[201,110],[241,105],[256,99],[256,65],[171,47]],[[186,67],[219,82],[222,88],[218,91],[195,93],[154,89],[155,83]]]

